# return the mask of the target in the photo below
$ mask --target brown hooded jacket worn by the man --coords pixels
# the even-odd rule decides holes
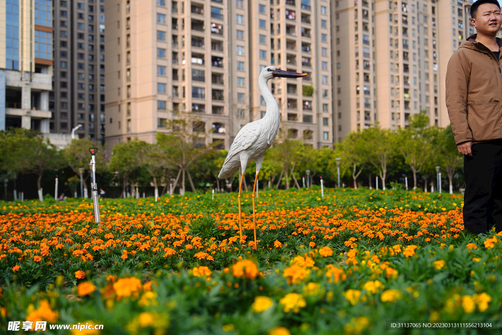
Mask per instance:
[[[496,41],[502,50],[502,40]],[[456,144],[502,138],[501,63],[476,42],[476,34],[451,56],[446,71],[446,107]]]

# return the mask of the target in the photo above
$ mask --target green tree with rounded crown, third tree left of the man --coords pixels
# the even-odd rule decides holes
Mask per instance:
[[[394,134],[388,129],[380,128],[378,122],[361,132],[361,139],[369,146],[368,160],[378,170],[382,178],[383,189],[386,189],[387,165],[396,155]]]

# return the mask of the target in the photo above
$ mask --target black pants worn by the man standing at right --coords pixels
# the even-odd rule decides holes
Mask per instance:
[[[486,233],[494,225],[502,231],[502,140],[472,145],[464,157],[464,227],[472,234]]]

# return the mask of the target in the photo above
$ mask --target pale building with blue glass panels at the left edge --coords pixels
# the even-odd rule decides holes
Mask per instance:
[[[49,133],[52,1],[0,1],[0,130]]]

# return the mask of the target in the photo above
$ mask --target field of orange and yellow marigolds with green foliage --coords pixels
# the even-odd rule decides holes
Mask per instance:
[[[319,189],[0,203],[0,329],[100,334],[496,333],[502,234],[464,233],[462,197]],[[386,320],[497,320],[386,330]],[[496,329],[495,329],[496,327]],[[85,333],[86,330],[75,333]],[[0,331],[1,332],[1,331]],[[47,330],[44,333],[68,333]]]

